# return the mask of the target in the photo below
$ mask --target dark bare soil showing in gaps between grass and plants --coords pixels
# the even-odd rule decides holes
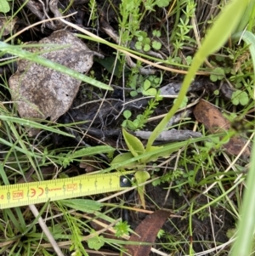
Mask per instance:
[[[16,2],[16,1],[15,1]],[[22,2],[22,1],[20,1]],[[59,9],[65,9],[68,1],[59,1]],[[116,12],[118,11],[119,1],[113,1],[110,3],[106,2],[97,2],[98,4],[98,15],[100,17],[101,14],[107,14],[107,21],[110,26],[113,27],[114,30],[118,31],[117,27],[117,21],[116,21]],[[206,3],[204,1],[197,1],[198,9],[197,9],[197,18],[198,23],[201,24],[200,31],[203,32],[205,30],[205,27],[207,26],[207,19],[210,15],[215,15],[218,13],[218,9],[211,9],[211,4]],[[14,3],[15,8],[18,8],[18,2]],[[41,11],[42,6],[40,3],[37,3],[37,9]],[[113,9],[112,7],[115,7]],[[73,11],[77,11],[77,14],[69,18],[69,20],[78,26],[84,26],[88,27],[88,17],[89,17],[89,9],[88,9],[88,1],[74,1],[74,4],[72,5],[71,9],[68,13],[72,13]],[[48,12],[50,16],[53,16],[52,13]],[[202,15],[201,15],[202,14]],[[155,16],[158,15],[158,17],[163,17],[161,13],[161,9],[157,9],[156,13],[149,14],[143,21],[141,29],[144,31],[151,32],[151,27],[158,27],[166,26],[164,23],[164,20],[161,19],[161,22],[158,20],[155,20]],[[16,26],[16,31],[20,31],[24,27],[28,26],[28,22],[35,23],[39,19],[35,14],[31,13],[31,10],[27,9],[26,7],[18,14],[19,22]],[[173,26],[174,23],[174,15],[171,16],[168,20],[168,26],[171,30],[171,26]],[[151,23],[150,23],[151,22]],[[71,28],[66,28],[67,30],[74,31]],[[104,31],[100,29],[100,19],[98,26],[95,28],[88,27],[88,30],[93,32],[98,32],[100,37],[103,37],[107,40],[110,40],[113,42],[112,39],[109,39],[109,36],[105,34]],[[19,39],[23,43],[28,43],[30,41],[39,41],[43,37],[48,37],[54,30],[48,26],[46,26],[43,31],[42,27],[35,26],[32,29],[29,29],[28,31],[25,31],[24,33],[20,34],[19,37],[15,38],[15,42]],[[191,35],[190,35],[191,36]],[[165,40],[166,38],[162,37],[162,40]],[[105,58],[110,57],[114,54],[114,50],[108,46],[105,45],[98,45],[93,42],[88,42],[84,40],[85,43],[88,44],[89,48],[92,48],[94,51],[99,51],[100,54],[104,54]],[[98,48],[99,46],[99,48]],[[164,49],[163,49],[164,51]],[[187,50],[187,54],[190,54],[190,52],[195,52],[195,48]],[[66,53],[68,54],[68,53]],[[185,54],[185,52],[184,52]],[[2,73],[6,77],[10,77],[15,71],[15,65],[6,65],[2,67]],[[92,71],[94,71],[94,77],[102,82],[104,81],[104,77],[111,77],[111,74],[109,71],[105,69],[103,65],[101,65],[98,61],[94,62],[93,67],[88,72],[88,75],[92,75]],[[163,75],[163,82],[161,85],[166,85],[169,82],[178,83],[181,82],[183,79],[183,76],[171,74],[169,72],[166,72]],[[197,77],[196,82],[208,82],[207,77]],[[127,80],[127,79],[126,79]],[[53,135],[53,134],[47,134],[42,133],[37,138],[39,140],[42,140],[45,145],[52,144],[55,148],[65,148],[67,146],[76,146],[76,145],[112,145],[119,150],[122,150],[125,148],[125,144],[122,139],[121,135],[121,129],[122,129],[122,121],[123,117],[122,115],[118,117],[118,114],[120,111],[122,111],[122,105],[123,103],[127,103],[129,100],[133,100],[132,97],[129,96],[128,90],[126,90],[123,93],[122,90],[122,77],[113,77],[113,80],[111,82],[114,87],[113,92],[108,92],[106,94],[105,100],[102,103],[102,99],[104,97],[105,92],[103,90],[100,90],[98,88],[93,88],[92,86],[88,84],[82,84],[80,87],[80,90],[77,94],[76,99],[73,101],[73,104],[71,105],[70,110],[65,113],[64,116],[59,117],[58,122],[59,123],[71,123],[71,122],[79,122],[79,121],[87,121],[82,125],[78,125],[77,127],[80,128],[83,132],[86,131],[86,136],[83,137],[81,140],[81,134],[78,134],[77,132],[73,132],[77,138],[76,139],[68,139],[63,136],[59,135]],[[213,84],[213,87],[218,88],[218,84]],[[201,96],[201,94],[208,95],[211,94],[211,91],[209,90],[210,87],[208,87],[208,91],[202,89],[198,89],[193,93],[190,93],[189,96],[193,97],[192,100],[198,99],[198,97]],[[123,94],[125,94],[125,98],[123,98]],[[7,94],[6,91],[2,91],[2,95],[7,95],[4,100],[10,100],[9,94]],[[129,104],[126,106],[126,109],[129,109],[133,112],[133,117],[136,117],[139,113],[142,113],[144,111],[144,108],[146,107],[148,100],[143,99],[142,95],[140,94],[137,96],[137,99],[140,99],[139,101],[136,101],[135,104]],[[83,106],[79,107],[80,105],[84,104]],[[171,107],[173,104],[173,100],[162,100],[158,108],[156,109],[156,112],[154,113],[154,116],[158,116],[164,113],[167,113],[167,110]],[[99,110],[100,107],[100,110]],[[99,110],[99,112],[97,112]],[[97,115],[96,115],[97,114]],[[95,116],[96,115],[96,116]],[[117,118],[116,118],[117,117]],[[190,114],[190,118],[194,117],[192,114]],[[92,122],[93,120],[93,122]],[[144,129],[147,130],[153,130],[153,128],[156,127],[156,124],[158,121],[150,122]],[[192,126],[187,124],[185,126],[187,129],[192,129]],[[66,131],[66,130],[65,130]],[[48,137],[49,135],[49,137]],[[44,138],[47,138],[43,140]],[[144,144],[146,144],[146,141],[143,141]],[[191,153],[191,151],[190,151]],[[100,159],[100,156],[98,156]],[[220,161],[220,160],[219,160]],[[77,174],[84,174],[86,170],[80,168],[76,164],[74,164],[74,167],[76,169]],[[103,168],[107,167],[107,163],[103,163]],[[173,165],[169,166],[169,168],[173,169]],[[178,168],[182,168],[181,164],[178,166]],[[161,170],[161,173],[163,173],[163,168]],[[70,174],[71,175],[71,174]],[[199,176],[199,175],[198,175]],[[202,179],[202,176],[197,178],[198,181]],[[195,253],[199,253],[202,251],[206,251],[210,248],[215,247],[216,245],[220,245],[224,242],[228,241],[228,238],[226,236],[226,233],[229,229],[235,227],[235,219],[226,211],[223,205],[213,205],[210,208],[210,212],[208,208],[206,208],[203,212],[203,216],[194,214],[192,216],[192,237],[189,234],[189,211],[190,211],[190,203],[192,202],[195,206],[193,210],[196,210],[197,208],[201,208],[204,204],[207,204],[207,197],[201,195],[201,191],[204,189],[201,186],[197,186],[194,188],[189,188],[188,186],[184,186],[184,190],[181,192],[171,190],[169,196],[167,196],[167,199],[165,201],[165,197],[167,195],[167,187],[169,187],[169,183],[163,183],[158,186],[153,185],[147,185],[146,186],[146,193],[148,194],[148,197],[146,199],[146,209],[155,211],[158,208],[167,208],[173,211],[174,214],[178,214],[179,216],[182,216],[182,218],[173,218],[170,219],[170,221],[167,221],[167,223],[163,226],[163,230],[165,230],[166,236],[164,236],[161,239],[158,239],[156,242],[167,242],[169,241],[182,241],[184,242],[182,245],[175,245],[173,247],[170,247],[169,245],[165,248],[166,253],[172,253],[171,255],[184,255],[189,254],[189,248],[190,248],[190,242],[193,243],[193,249]],[[173,182],[173,185],[176,185]],[[212,197],[216,197],[218,194],[218,191],[213,191],[214,195]],[[150,199],[149,199],[150,198]],[[127,201],[127,206],[134,206],[137,205],[138,202],[138,196],[136,193],[130,193],[126,195],[126,198],[122,198]],[[140,221],[144,219],[145,214],[144,213],[134,213],[125,210],[124,212],[118,212],[118,216],[116,218],[122,217],[123,219],[127,220],[128,224],[131,225],[133,230],[139,225]],[[155,247],[161,247],[161,246],[155,246]],[[108,249],[114,250],[113,248]],[[221,251],[217,255],[227,255],[228,254],[228,247],[224,248],[224,251]],[[151,253],[151,255],[156,255]],[[207,253],[204,255],[216,255],[215,252],[213,253]]]

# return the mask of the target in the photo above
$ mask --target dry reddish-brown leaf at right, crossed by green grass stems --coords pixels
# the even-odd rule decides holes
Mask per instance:
[[[200,102],[195,105],[193,111],[195,119],[198,122],[204,124],[204,126],[212,133],[218,134],[228,131],[231,128],[230,122],[223,116],[221,111],[217,107],[208,103],[205,100],[200,100]],[[244,145],[246,144],[246,139],[242,138],[240,135],[235,135],[229,139],[229,142],[224,144],[224,148],[229,153],[229,155],[237,156]],[[251,151],[246,147],[243,151],[242,156],[244,159],[248,159],[251,155]]]

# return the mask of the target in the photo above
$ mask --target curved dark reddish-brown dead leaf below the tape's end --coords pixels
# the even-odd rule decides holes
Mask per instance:
[[[150,245],[126,245],[124,255],[147,256],[150,254],[152,244],[156,240],[156,235],[165,223],[170,213],[165,210],[158,210],[148,215],[134,230],[135,234],[130,236],[129,242],[147,242]]]

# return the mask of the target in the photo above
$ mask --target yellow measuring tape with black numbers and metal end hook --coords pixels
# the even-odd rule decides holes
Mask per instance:
[[[132,186],[133,171],[0,185],[0,209],[91,196]]]

